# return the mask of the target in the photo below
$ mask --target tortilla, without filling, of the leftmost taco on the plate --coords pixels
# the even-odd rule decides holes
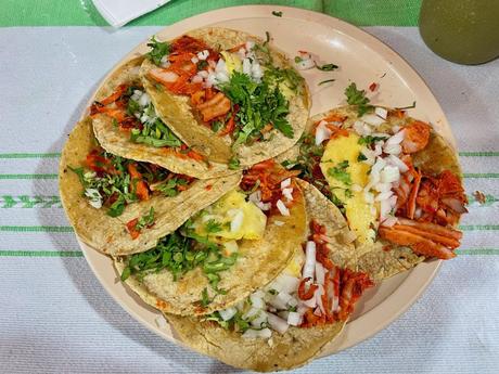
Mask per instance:
[[[67,218],[78,236],[91,247],[112,255],[128,255],[154,247],[157,240],[180,227],[194,212],[217,201],[238,185],[241,175],[221,179],[196,180],[175,197],[153,196],[149,201],[132,203],[121,216],[113,218],[105,208],[95,209],[82,195],[78,176],[69,170],[79,167],[87,154],[97,145],[92,133],[92,120],[78,122],[64,146],[59,169],[61,199]],[[132,240],[126,229],[130,220],[149,214],[154,207],[154,225],[142,230]]]

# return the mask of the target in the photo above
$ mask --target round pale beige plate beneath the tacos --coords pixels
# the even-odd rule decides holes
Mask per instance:
[[[283,16],[273,16],[272,11],[282,11]],[[410,111],[410,115],[432,122],[455,146],[447,119],[423,79],[397,53],[350,24],[294,8],[248,5],[221,9],[183,20],[164,28],[156,37],[159,40],[171,39],[204,26],[240,29],[263,38],[269,31],[274,44],[290,57],[297,55],[298,50],[306,50],[319,55],[322,63],[338,65],[340,69],[334,72],[304,72],[312,95],[311,115],[345,104],[343,92],[350,81],[363,89],[371,82],[378,82],[380,88],[376,93],[370,93],[373,103],[396,107],[415,101],[417,107]],[[145,43],[137,47],[123,61],[146,52]],[[318,82],[330,78],[336,80],[318,86]],[[125,310],[152,332],[181,344],[169,327],[157,327],[155,319],[161,313],[148,307],[119,282],[108,257],[84,243],[80,246],[95,276]],[[438,260],[423,262],[366,293],[342,336],[332,341],[323,354],[351,347],[393,322],[428,286],[439,265]]]

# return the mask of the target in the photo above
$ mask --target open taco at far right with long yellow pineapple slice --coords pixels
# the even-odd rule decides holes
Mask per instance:
[[[456,256],[466,197],[453,149],[405,111],[364,101],[310,118],[305,136],[280,156],[346,215],[358,266],[375,280],[426,258]]]

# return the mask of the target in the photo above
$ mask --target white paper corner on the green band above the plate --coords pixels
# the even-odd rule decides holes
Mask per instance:
[[[92,0],[97,10],[113,27],[121,27],[170,0]]]

